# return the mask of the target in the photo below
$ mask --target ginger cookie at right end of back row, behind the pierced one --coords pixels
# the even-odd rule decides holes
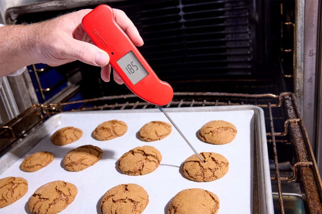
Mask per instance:
[[[198,137],[204,142],[222,145],[230,143],[236,134],[237,129],[233,124],[223,120],[213,120],[201,127]]]

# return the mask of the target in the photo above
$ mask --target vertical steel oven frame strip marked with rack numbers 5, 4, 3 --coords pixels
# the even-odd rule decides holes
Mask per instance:
[[[305,2],[303,120],[313,151],[315,150],[316,124],[316,73],[317,73],[317,18],[319,1]]]

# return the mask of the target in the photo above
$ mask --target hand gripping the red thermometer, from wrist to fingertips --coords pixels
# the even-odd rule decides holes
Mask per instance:
[[[36,25],[37,44],[36,57],[38,61],[50,66],[58,66],[79,60],[81,62],[101,66],[101,78],[110,80],[111,66],[109,55],[96,47],[81,27],[83,17],[90,9],[62,15],[50,21]],[[142,46],[143,40],[127,15],[118,9],[113,9],[115,21],[125,31],[136,46]],[[113,72],[114,80],[123,84],[123,80]]]

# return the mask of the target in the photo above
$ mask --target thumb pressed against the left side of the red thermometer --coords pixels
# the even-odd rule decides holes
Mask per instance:
[[[77,39],[71,39],[69,43],[70,48],[66,50],[67,57],[95,66],[109,64],[109,55],[95,45]]]

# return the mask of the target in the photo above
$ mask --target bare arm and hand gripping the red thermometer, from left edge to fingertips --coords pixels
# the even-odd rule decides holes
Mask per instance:
[[[84,9],[31,25],[0,27],[0,77],[30,64],[59,66],[79,60],[101,66],[103,80],[109,81],[109,55],[91,44],[81,27],[83,17],[90,11]],[[143,40],[132,21],[123,11],[113,11],[118,25],[136,46],[142,46]],[[117,83],[123,83],[117,73],[113,75]]]

